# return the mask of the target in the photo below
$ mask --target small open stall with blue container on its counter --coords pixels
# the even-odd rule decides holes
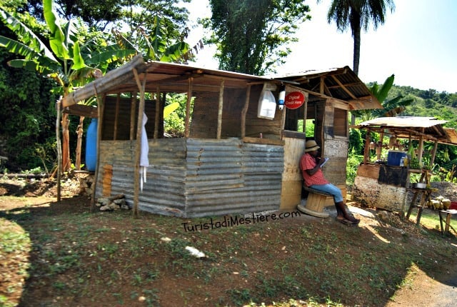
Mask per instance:
[[[353,126],[355,129],[366,130],[367,136],[363,163],[358,166],[351,194],[353,200],[368,207],[406,213],[411,204],[408,196],[414,193],[431,196],[430,188],[422,190],[411,186],[413,173],[421,174],[421,183],[429,183],[432,174],[429,166],[411,167],[411,163],[397,165],[397,161],[389,163],[385,155],[381,156],[381,151],[385,149],[384,152],[401,153],[406,149],[399,145],[399,140],[403,139],[408,145],[415,140],[418,142],[416,158],[421,165],[424,144],[433,144],[431,161],[428,163],[433,165],[438,144],[457,145],[456,131],[444,128],[446,122],[433,117],[398,116],[372,119]],[[378,134],[380,141],[371,141],[371,134]],[[383,143],[385,136],[388,136],[388,143]]]

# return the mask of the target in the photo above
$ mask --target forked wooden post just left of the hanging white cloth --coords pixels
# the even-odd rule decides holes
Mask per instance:
[[[146,87],[146,76],[141,84],[139,75],[134,69],[136,84],[140,89],[140,104],[138,108],[138,122],[136,123],[136,145],[135,145],[135,168],[134,168],[134,217],[138,217],[138,203],[140,193],[140,157],[141,157],[141,132],[143,131],[143,112],[144,112],[144,88]]]

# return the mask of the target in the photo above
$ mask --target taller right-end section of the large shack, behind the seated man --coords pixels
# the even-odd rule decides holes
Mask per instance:
[[[308,96],[306,105],[286,112],[283,132],[286,141],[283,196],[292,198],[290,204],[299,201],[297,191],[301,191],[302,177],[298,161],[303,155],[306,139],[314,139],[321,146],[319,153],[329,158],[323,173],[346,196],[349,113],[351,110],[382,109],[381,104],[348,66],[275,78],[293,84],[289,91],[300,89]],[[298,129],[300,121],[303,122],[303,131],[306,131],[307,123],[313,125],[313,134],[305,138],[304,134],[292,133]],[[293,186],[292,191],[287,191],[288,186]],[[289,203],[284,206],[289,206]],[[328,197],[326,206],[331,205],[333,198]]]

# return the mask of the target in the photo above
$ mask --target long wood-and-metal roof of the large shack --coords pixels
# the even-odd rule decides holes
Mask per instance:
[[[145,80],[146,76],[146,80]],[[241,89],[248,84],[263,84],[266,81],[281,84],[287,82],[310,93],[312,99],[333,98],[348,102],[351,109],[382,109],[363,82],[348,66],[328,71],[308,71],[296,76],[253,76],[217,69],[204,69],[184,64],[144,62],[137,55],[128,64],[109,71],[64,99],[64,107],[99,94],[118,94],[139,91],[144,84],[146,92],[186,92],[192,80],[194,92],[219,92],[224,88]],[[323,81],[323,83],[321,83]],[[323,91],[316,90],[323,85]]]

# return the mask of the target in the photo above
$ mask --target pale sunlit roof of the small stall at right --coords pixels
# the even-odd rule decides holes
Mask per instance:
[[[420,139],[424,141],[438,141],[442,144],[457,145],[455,129],[444,128],[448,121],[434,117],[397,116],[379,117],[370,121],[351,126],[351,128],[370,129],[371,131],[391,134],[399,139]]]

